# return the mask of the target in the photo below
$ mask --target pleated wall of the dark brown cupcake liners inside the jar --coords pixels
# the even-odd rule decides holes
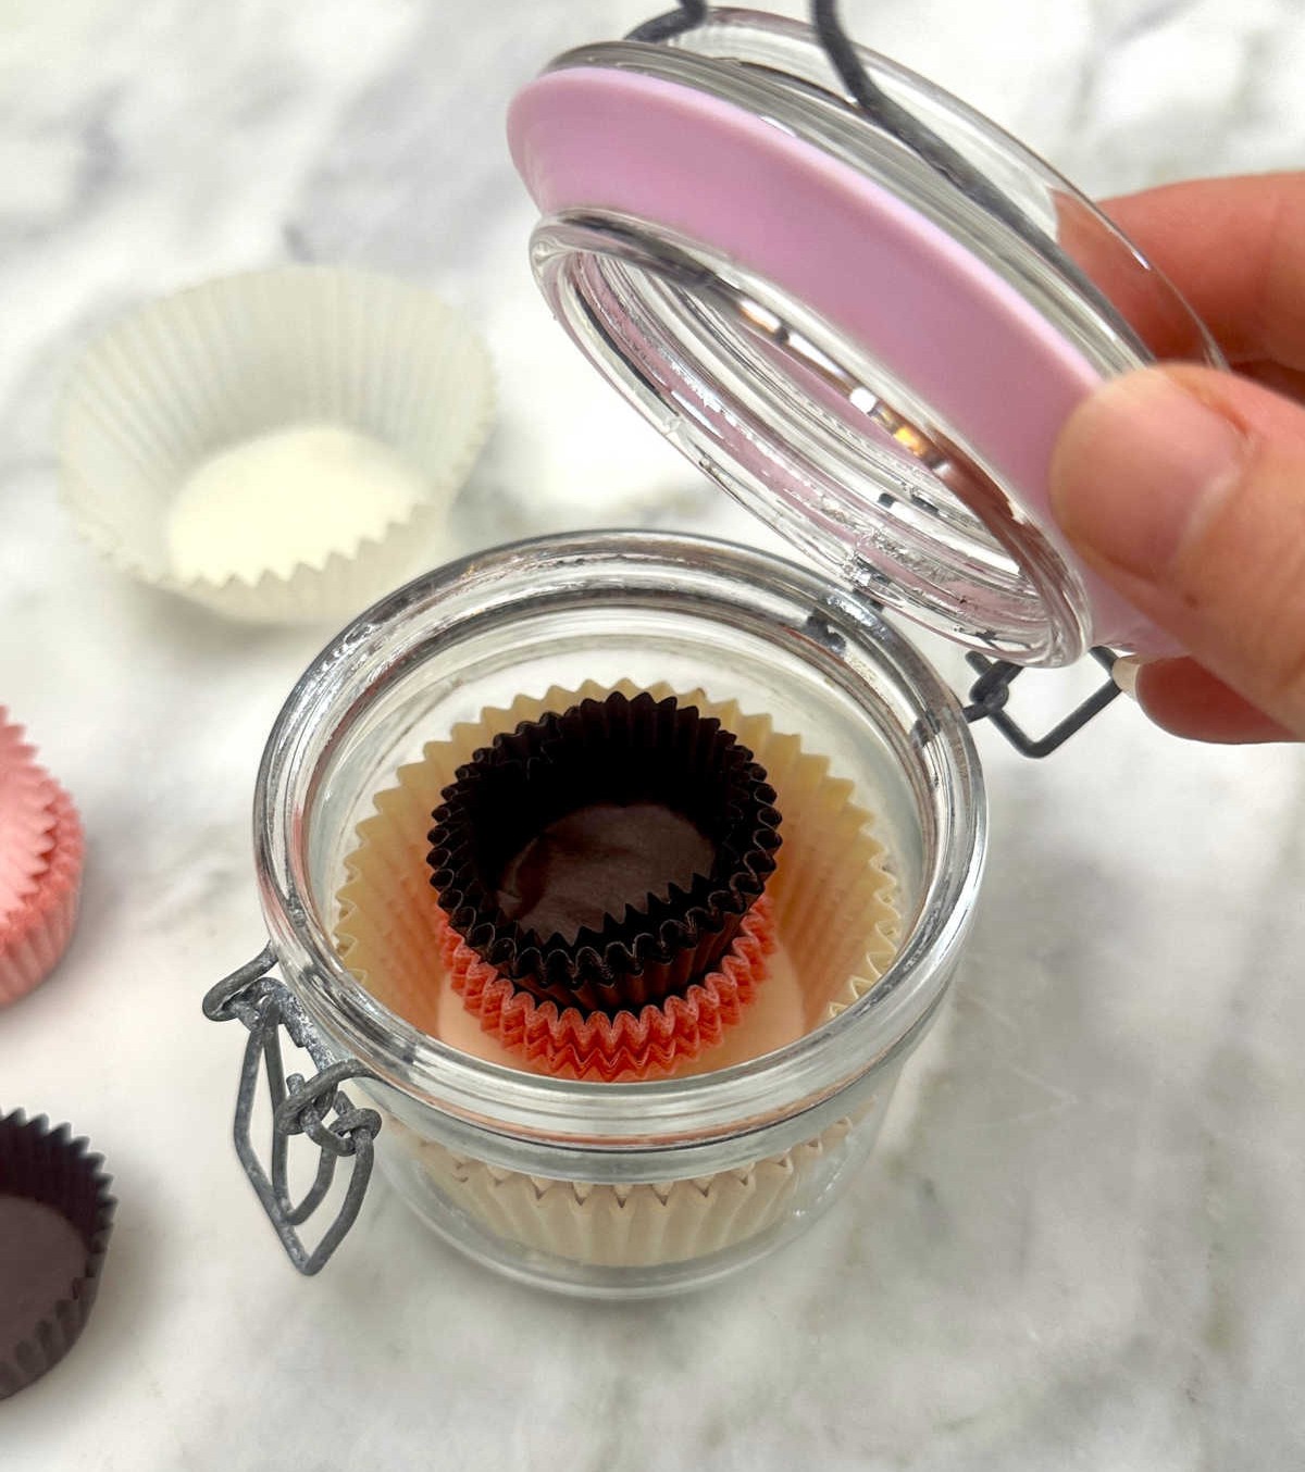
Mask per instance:
[[[753,752],[697,707],[647,692],[499,733],[442,796],[429,864],[452,929],[539,1001],[610,1016],[682,995],[713,972],[779,848],[775,792]],[[504,908],[499,885],[532,839],[577,811],[636,802],[688,818],[713,855],[706,873],[625,895],[619,914],[608,904],[570,936]]]

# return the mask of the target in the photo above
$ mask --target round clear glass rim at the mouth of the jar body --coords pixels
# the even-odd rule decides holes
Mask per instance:
[[[586,570],[688,576],[722,590],[817,608],[847,652],[891,671],[928,712],[919,749],[940,802],[938,858],[918,919],[870,992],[838,1017],[761,1057],[683,1079],[586,1083],[470,1057],[384,1008],[345,966],[311,892],[312,805],[333,754],[384,684],[432,640],[449,642],[458,608],[529,593],[541,568],[574,583]],[[731,595],[732,596],[732,595]],[[840,655],[845,662],[847,655]],[[848,664],[851,673],[851,665]],[[370,679],[371,701],[359,695]],[[255,866],[272,949],[308,1017],[340,1055],[356,1055],[421,1104],[514,1138],[585,1148],[704,1141],[761,1128],[840,1092],[909,1048],[941,1001],[979,883],[987,814],[978,754],[954,693],[879,612],[812,570],[692,534],[604,531],[508,543],[445,564],[367,609],[309,664],[264,749],[253,799]]]

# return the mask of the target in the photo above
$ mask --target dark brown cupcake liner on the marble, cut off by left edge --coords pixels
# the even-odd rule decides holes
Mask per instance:
[[[38,1260],[49,1245],[43,1272],[22,1284],[6,1279],[0,1263],[0,1400],[40,1379],[77,1342],[100,1288],[116,1201],[109,1195],[103,1158],[87,1153],[68,1125],[50,1129],[44,1116],[28,1120],[21,1110],[0,1117],[0,1225],[24,1239],[24,1257]],[[47,1213],[72,1228],[77,1242]],[[19,1213],[22,1213],[19,1216]],[[32,1242],[32,1229],[49,1226],[49,1244]],[[16,1251],[16,1247],[10,1248]],[[66,1257],[65,1264],[59,1257]],[[49,1279],[49,1287],[43,1287]],[[7,1282],[7,1291],[6,1291]]]

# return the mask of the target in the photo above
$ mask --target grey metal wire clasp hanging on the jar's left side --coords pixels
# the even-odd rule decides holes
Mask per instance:
[[[203,999],[203,1014],[209,1022],[239,1020],[249,1032],[236,1094],[236,1154],[286,1256],[300,1273],[311,1276],[326,1266],[358,1216],[371,1179],[373,1141],[380,1133],[380,1114],[370,1108],[355,1108],[340,1085],[348,1079],[377,1075],[355,1058],[343,1063],[331,1060],[321,1035],[296,998],[283,982],[270,974],[275,964],[277,958],[268,946],[209,991]],[[320,1072],[311,1079],[305,1080],[298,1073],[286,1078],[281,1058],[283,1027],[292,1042],[303,1048],[317,1064]],[[259,1073],[267,1079],[272,1107],[271,1170],[264,1169],[250,1138]],[[330,1119],[331,1113],[334,1119]],[[298,1204],[290,1198],[287,1182],[292,1135],[306,1135],[320,1150],[317,1178]],[[309,1251],[296,1228],[326,1200],[336,1166],[345,1157],[353,1161],[345,1198],[321,1241]]]

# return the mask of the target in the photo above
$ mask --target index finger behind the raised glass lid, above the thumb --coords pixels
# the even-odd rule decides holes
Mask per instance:
[[[1305,174],[1193,180],[1102,209],[1234,364],[1305,369]]]

